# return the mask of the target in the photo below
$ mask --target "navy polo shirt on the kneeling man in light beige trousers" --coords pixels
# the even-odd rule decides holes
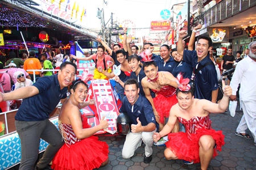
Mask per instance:
[[[156,128],[159,129],[158,123],[155,121],[155,114],[153,112],[152,106],[146,97],[139,95],[137,101],[134,105],[131,105],[125,96],[123,98],[123,104],[119,112],[127,112],[131,119],[131,123],[137,125],[137,117],[141,121],[142,126],[147,126],[149,123],[154,123]]]

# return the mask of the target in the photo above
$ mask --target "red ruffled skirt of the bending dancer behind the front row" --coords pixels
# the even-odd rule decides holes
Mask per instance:
[[[170,109],[173,105],[177,103],[176,95],[171,97],[165,97],[161,94],[153,98],[155,109],[160,116],[160,123],[164,123],[164,117],[168,118],[170,114]]]

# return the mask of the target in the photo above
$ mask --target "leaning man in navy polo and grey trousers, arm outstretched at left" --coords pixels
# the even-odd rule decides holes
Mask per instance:
[[[58,74],[39,78],[32,86],[19,88],[6,94],[0,93],[0,102],[23,99],[15,116],[15,126],[21,143],[22,158],[19,169],[34,169],[38,159],[40,138],[49,145],[36,169],[51,169],[49,163],[64,142],[61,134],[49,120],[56,105],[67,98],[67,86],[73,82],[76,65],[64,62]]]

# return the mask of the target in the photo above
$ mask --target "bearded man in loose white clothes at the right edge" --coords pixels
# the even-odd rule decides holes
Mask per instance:
[[[243,108],[243,116],[237,127],[236,135],[251,139],[250,135],[245,132],[249,129],[256,146],[256,41],[249,44],[249,50],[249,56],[237,63],[232,76],[230,86],[233,91],[230,100],[237,100],[236,93],[238,84],[240,84],[240,105]]]

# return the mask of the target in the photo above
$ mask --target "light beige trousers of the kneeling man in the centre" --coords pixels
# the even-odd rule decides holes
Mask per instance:
[[[134,155],[135,150],[141,146],[141,142],[145,146],[145,155],[148,157],[152,155],[152,145],[153,145],[153,134],[156,131],[143,131],[140,133],[130,132],[126,135],[125,144],[123,145],[122,156],[124,159],[129,159]]]

